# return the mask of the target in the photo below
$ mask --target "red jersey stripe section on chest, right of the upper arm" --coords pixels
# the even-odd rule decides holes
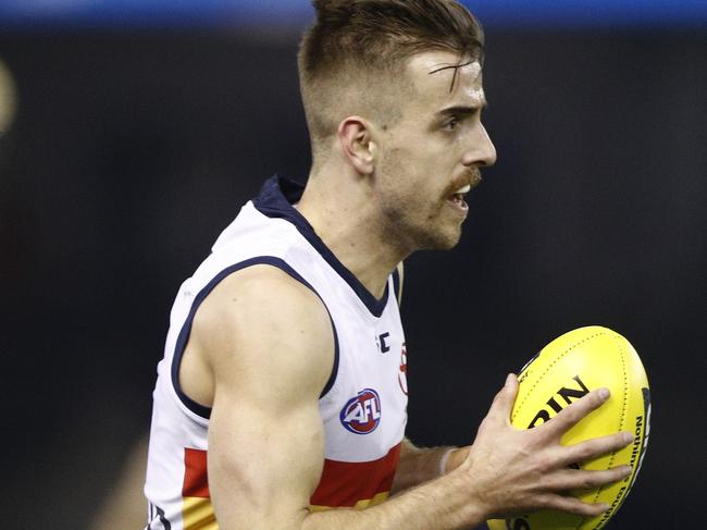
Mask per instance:
[[[400,444],[371,461],[324,460],[324,470],[310,504],[354,507],[357,502],[390,491],[400,459]]]

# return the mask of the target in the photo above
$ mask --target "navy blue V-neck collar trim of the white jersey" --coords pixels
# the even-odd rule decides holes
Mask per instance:
[[[293,207],[293,204],[301,198],[303,190],[305,187],[301,184],[275,175],[265,181],[260,190],[260,195],[252,200],[252,204],[263,215],[284,219],[293,223],[322,258],[349,284],[368,310],[371,311],[371,315],[381,317],[388,303],[387,285],[385,286],[383,298],[379,300],[338,260],[334,252],[328,249],[324,242],[317,235],[312,225],[309,224],[309,221]]]

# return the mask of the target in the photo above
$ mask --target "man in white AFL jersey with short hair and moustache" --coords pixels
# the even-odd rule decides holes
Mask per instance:
[[[182,285],[154,391],[148,528],[431,530],[601,513],[561,493],[628,470],[569,466],[630,437],[559,443],[599,392],[517,431],[509,375],[471,446],[405,439],[399,263],[456,245],[464,195],[496,159],[483,36],[452,0],[314,5],[299,53],[309,181],[268,181]]]

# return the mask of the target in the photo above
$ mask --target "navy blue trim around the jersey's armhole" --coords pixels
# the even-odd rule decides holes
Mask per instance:
[[[176,346],[174,347],[174,358],[172,359],[172,385],[174,386],[174,390],[176,391],[177,396],[179,397],[182,403],[184,403],[184,405],[189,410],[191,410],[197,416],[200,416],[201,418],[209,419],[211,417],[211,408],[206,407],[191,399],[189,396],[187,396],[184,393],[182,386],[179,385],[179,366],[182,365],[182,357],[184,356],[184,350],[189,340],[189,334],[191,333],[194,317],[196,316],[197,310],[201,306],[201,303],[207,298],[207,296],[209,296],[209,294],[215,288],[215,286],[223,281],[223,279],[225,279],[230,274],[233,274],[236,271],[256,264],[269,264],[272,267],[276,267],[283,272],[289,274],[293,279],[297,280],[305,286],[309,287],[312,291],[312,293],[314,293],[319,297],[319,299],[322,300],[322,304],[324,304],[324,308],[328,313],[328,318],[332,321],[332,331],[334,332],[334,366],[332,368],[332,374],[330,375],[328,381],[326,382],[326,385],[324,386],[324,390],[320,395],[320,399],[324,397],[330,390],[332,390],[332,386],[334,386],[334,383],[336,382],[336,374],[338,373],[338,358],[339,358],[338,335],[336,333],[336,324],[334,324],[334,319],[332,318],[332,313],[330,312],[328,307],[326,307],[326,304],[319,295],[317,289],[314,289],[314,287],[312,287],[309,284],[309,282],[307,282],[307,280],[305,280],[295,269],[293,269],[289,264],[287,264],[287,262],[285,262],[281,258],[275,258],[273,256],[258,256],[256,258],[250,258],[245,261],[240,261],[238,263],[232,264],[231,267],[224,269],[219,274],[216,274],[213,278],[213,280],[211,280],[207,284],[207,286],[203,287],[194,298],[194,303],[191,304],[191,309],[189,310],[189,315],[187,316],[184,325],[182,325],[182,330],[179,330],[179,335],[177,336]]]

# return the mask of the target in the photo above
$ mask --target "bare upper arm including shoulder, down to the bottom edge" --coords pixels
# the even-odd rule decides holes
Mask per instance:
[[[272,269],[214,294],[199,337],[214,373],[208,467],[220,528],[299,529],[323,466],[328,313],[309,288]]]

